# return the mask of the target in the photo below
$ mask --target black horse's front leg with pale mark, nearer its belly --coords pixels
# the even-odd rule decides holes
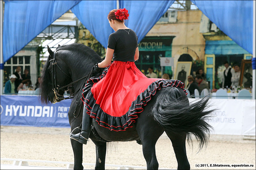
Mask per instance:
[[[96,164],[95,169],[105,169],[105,159],[106,159],[106,142],[95,141],[92,142],[96,146]]]

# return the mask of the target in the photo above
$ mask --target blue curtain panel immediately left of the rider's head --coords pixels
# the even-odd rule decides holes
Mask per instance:
[[[71,11],[86,29],[107,48],[108,37],[114,30],[107,19],[108,13],[117,8],[117,1],[81,1]]]

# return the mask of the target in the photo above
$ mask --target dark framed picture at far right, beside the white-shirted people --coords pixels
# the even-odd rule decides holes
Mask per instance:
[[[253,86],[253,68],[252,68],[252,60],[250,59],[242,59],[241,62],[241,74],[239,85],[244,88],[251,88]]]

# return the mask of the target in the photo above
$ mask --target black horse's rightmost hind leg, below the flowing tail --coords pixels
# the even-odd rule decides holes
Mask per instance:
[[[172,147],[178,162],[177,169],[190,169],[188,157],[186,153],[186,133],[174,133],[166,131],[167,136],[172,141]]]

